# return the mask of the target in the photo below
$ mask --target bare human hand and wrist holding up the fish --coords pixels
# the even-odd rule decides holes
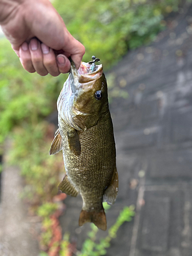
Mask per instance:
[[[67,73],[69,56],[79,68],[84,46],[69,33],[49,0],[0,0],[0,25],[28,72]]]

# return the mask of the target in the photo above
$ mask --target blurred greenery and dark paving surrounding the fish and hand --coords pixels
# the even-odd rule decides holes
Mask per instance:
[[[49,156],[68,75],[27,73],[0,32],[0,256],[191,256],[191,1],[52,4],[103,65],[119,194],[106,232],[78,227],[82,200],[57,194],[62,153]]]

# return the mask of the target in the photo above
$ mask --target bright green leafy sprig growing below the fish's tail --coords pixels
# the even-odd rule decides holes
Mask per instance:
[[[84,241],[81,252],[79,252],[78,256],[101,256],[106,254],[106,248],[110,247],[110,242],[113,238],[117,236],[117,231],[119,227],[125,221],[131,221],[132,217],[135,215],[134,212],[135,207],[125,206],[123,210],[120,212],[116,223],[109,229],[108,236],[104,239],[100,239],[99,243],[96,243],[96,234],[98,232],[98,228],[91,223],[91,231],[88,233],[88,239]]]

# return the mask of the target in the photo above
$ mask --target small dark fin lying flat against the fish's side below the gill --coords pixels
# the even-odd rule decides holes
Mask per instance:
[[[76,156],[80,156],[81,145],[79,141],[79,136],[77,134],[77,130],[73,129],[72,131],[69,131],[67,134],[68,134],[68,144],[69,144],[70,150]]]

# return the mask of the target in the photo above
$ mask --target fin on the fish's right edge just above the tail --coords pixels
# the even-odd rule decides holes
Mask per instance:
[[[118,193],[118,173],[115,167],[113,177],[112,177],[112,182],[109,185],[109,187],[106,188],[106,190],[104,191],[103,202],[107,202],[108,204],[114,204],[117,197],[117,193]]]

